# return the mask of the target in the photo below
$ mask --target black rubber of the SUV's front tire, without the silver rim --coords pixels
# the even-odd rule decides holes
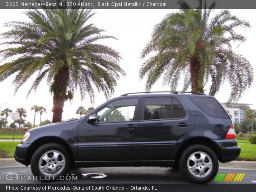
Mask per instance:
[[[50,150],[57,150],[57,151],[61,152],[63,154],[66,162],[65,162],[64,169],[58,175],[49,177],[49,176],[44,175],[40,171],[38,163],[39,163],[39,160],[40,160],[40,157],[42,156],[42,154],[44,154],[45,152],[50,151]],[[42,145],[34,152],[32,158],[31,158],[31,171],[34,176],[38,176],[38,180],[47,182],[47,181],[56,180],[60,176],[67,174],[68,171],[70,170],[70,164],[71,163],[70,163],[69,154],[64,146],[57,144],[57,143],[48,143],[48,144]]]

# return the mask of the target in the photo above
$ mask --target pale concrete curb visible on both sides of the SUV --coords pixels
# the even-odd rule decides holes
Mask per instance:
[[[228,168],[256,170],[256,161],[232,161],[228,163],[220,163],[219,166],[222,169]],[[14,158],[0,158],[0,168],[8,167],[24,167],[24,165],[17,162]]]

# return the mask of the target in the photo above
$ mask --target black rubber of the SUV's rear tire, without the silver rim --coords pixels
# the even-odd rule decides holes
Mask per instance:
[[[198,178],[196,176],[193,176],[190,171],[188,170],[188,166],[187,166],[187,161],[189,156],[197,151],[202,151],[206,154],[208,154],[210,156],[210,158],[212,159],[212,170],[210,172],[210,174],[208,174],[207,176],[203,177],[203,178]],[[218,173],[218,168],[219,168],[219,163],[218,163],[218,158],[216,156],[216,154],[208,147],[204,146],[204,145],[193,145],[190,146],[188,148],[186,148],[182,154],[182,156],[180,157],[180,163],[179,163],[179,169],[180,172],[182,173],[182,175],[184,177],[186,177],[190,182],[193,183],[208,183],[211,180],[214,179],[214,177],[216,176],[216,174]]]

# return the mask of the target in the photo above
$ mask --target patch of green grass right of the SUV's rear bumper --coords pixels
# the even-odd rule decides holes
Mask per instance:
[[[256,144],[238,144],[241,153],[238,160],[256,161]]]

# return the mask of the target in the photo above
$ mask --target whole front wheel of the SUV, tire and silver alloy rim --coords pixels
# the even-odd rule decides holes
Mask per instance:
[[[31,158],[31,171],[42,181],[57,180],[70,170],[70,154],[66,148],[57,143],[40,146]]]

